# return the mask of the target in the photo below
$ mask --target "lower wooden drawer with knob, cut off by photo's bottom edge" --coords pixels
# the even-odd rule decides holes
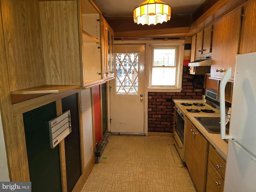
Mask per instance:
[[[206,192],[223,192],[224,179],[220,173],[216,170],[212,162],[208,161],[206,179]]]

